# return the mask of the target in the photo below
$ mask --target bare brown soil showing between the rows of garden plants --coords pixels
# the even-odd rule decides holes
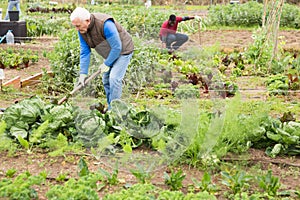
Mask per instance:
[[[243,49],[247,47],[253,40],[250,31],[202,31],[190,36],[190,40],[182,47],[205,47],[220,45],[225,51],[231,52],[234,49]],[[279,35],[284,36],[285,44],[284,48],[293,52],[300,52],[300,31],[281,31]],[[31,49],[32,51],[39,52],[39,61],[35,64],[30,65],[24,69],[7,69],[5,70],[4,82],[20,76],[21,79],[28,78],[37,73],[42,72],[42,69],[51,70],[49,61],[43,56],[44,52],[51,51],[54,48],[54,44],[57,38],[40,38],[35,43],[24,43],[21,45],[14,45],[14,48]],[[1,44],[0,48],[7,48],[7,45]],[[242,84],[243,81],[240,81]],[[248,84],[244,82],[244,84]],[[245,87],[245,85],[239,85],[239,87]],[[22,90],[34,90],[33,87],[22,88]],[[255,94],[257,96],[261,94]],[[265,95],[262,94],[262,95]],[[299,97],[299,96],[298,96]],[[296,97],[296,101],[299,98]],[[21,97],[20,97],[21,98]],[[262,97],[263,98],[263,97]],[[297,99],[298,98],[298,99]],[[0,107],[6,108],[12,105],[19,97],[15,99],[0,100]],[[141,150],[137,150],[141,151]],[[18,173],[29,171],[36,175],[42,171],[46,171],[49,174],[47,178],[48,183],[40,187],[36,187],[39,194],[39,199],[46,199],[45,193],[49,189],[49,183],[59,184],[55,179],[60,174],[67,175],[66,178],[78,177],[78,161],[81,156],[84,156],[88,162],[88,167],[91,171],[97,171],[99,168],[112,171],[114,166],[105,165],[105,159],[98,160],[88,154],[67,154],[65,157],[50,157],[48,154],[43,152],[27,153],[17,152],[14,156],[8,156],[7,153],[0,153],[0,179],[5,177],[5,173],[9,169],[16,169]],[[299,189],[299,176],[300,176],[300,157],[277,157],[270,158],[264,153],[264,150],[250,149],[244,155],[228,155],[224,160],[228,163],[238,163],[244,165],[245,168],[257,170],[271,169],[273,175],[280,177],[280,182],[284,189]],[[153,171],[154,178],[151,180],[157,186],[165,187],[163,180],[163,173],[170,171],[167,167],[161,167]],[[198,170],[192,167],[183,166],[183,171],[186,174],[184,179],[184,191],[187,191],[188,185],[192,184],[192,178],[201,180],[202,170]],[[219,174],[220,172],[215,172]],[[255,173],[255,172],[253,172]],[[120,190],[125,183],[136,183],[136,178],[128,170],[119,170],[118,178],[120,183],[117,186],[106,187],[99,192],[100,196],[106,193]],[[218,180],[220,177],[214,176],[214,182],[220,183]],[[221,184],[218,184],[221,185]],[[219,199],[222,199],[222,192],[219,193]]]

